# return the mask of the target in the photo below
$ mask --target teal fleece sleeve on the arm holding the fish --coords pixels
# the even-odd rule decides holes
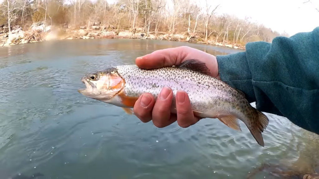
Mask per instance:
[[[216,58],[221,80],[259,111],[319,134],[319,27],[272,43],[250,42],[245,52]]]

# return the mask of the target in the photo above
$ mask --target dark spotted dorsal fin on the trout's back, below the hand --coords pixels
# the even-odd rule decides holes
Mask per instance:
[[[193,71],[203,73],[205,75],[211,75],[211,71],[206,67],[206,64],[196,59],[190,59],[182,62],[180,65],[175,66],[176,68],[186,68]]]

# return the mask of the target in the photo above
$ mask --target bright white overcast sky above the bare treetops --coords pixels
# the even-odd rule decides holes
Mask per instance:
[[[113,3],[114,0],[107,0]],[[167,0],[169,1],[169,0]],[[309,32],[319,26],[319,0],[207,0],[212,6],[220,4],[217,13],[227,13],[238,18],[250,17],[273,31],[290,36],[298,32]],[[201,6],[206,0],[196,0]],[[316,20],[317,19],[317,20]]]

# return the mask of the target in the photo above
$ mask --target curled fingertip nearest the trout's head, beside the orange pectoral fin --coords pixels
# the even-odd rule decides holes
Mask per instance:
[[[155,99],[150,93],[142,94],[134,104],[134,114],[142,122],[152,120],[152,110],[155,104]]]

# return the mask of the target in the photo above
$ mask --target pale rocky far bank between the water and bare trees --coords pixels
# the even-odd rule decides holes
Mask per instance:
[[[138,31],[137,29],[136,31]],[[167,32],[149,32],[148,36],[145,32],[135,32],[129,30],[116,30],[116,29],[103,29],[97,25],[91,26],[87,29],[85,26],[80,27],[77,30],[72,30],[68,27],[51,28],[51,26],[45,26],[44,24],[33,25],[28,31],[22,31],[19,25],[11,27],[11,33],[8,32],[8,27],[0,26],[0,46],[10,46],[17,44],[49,41],[49,40],[63,40],[63,39],[158,39],[158,40],[172,40],[172,41],[184,41],[193,43],[202,43],[209,45],[217,45],[223,47],[230,47],[235,49],[245,50],[245,46],[240,44],[222,43],[214,40],[204,41],[202,37],[197,34],[168,34]],[[143,35],[142,35],[143,34]]]

